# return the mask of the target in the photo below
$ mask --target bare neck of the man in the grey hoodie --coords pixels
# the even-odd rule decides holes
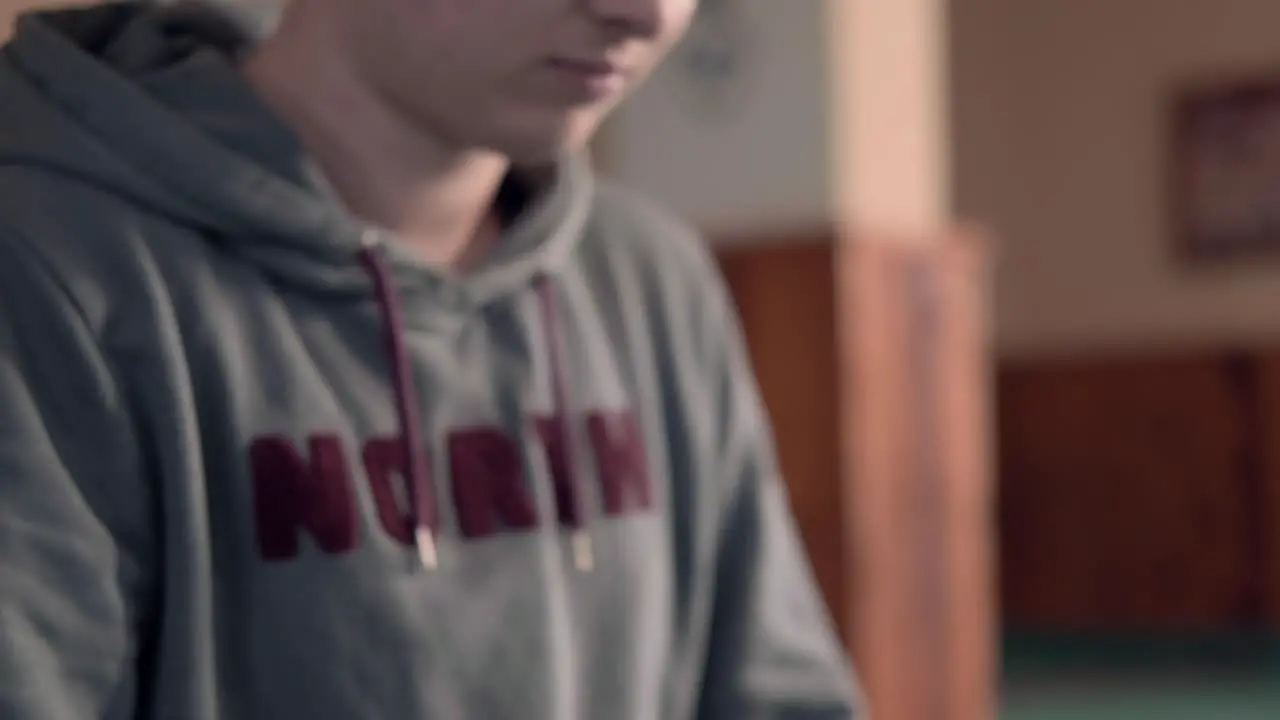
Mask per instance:
[[[248,82],[298,133],[357,217],[396,233],[424,260],[467,269],[497,242],[493,200],[508,163],[458,151],[424,132],[324,46],[320,28],[292,28],[244,64]],[[332,46],[332,45],[329,45]]]

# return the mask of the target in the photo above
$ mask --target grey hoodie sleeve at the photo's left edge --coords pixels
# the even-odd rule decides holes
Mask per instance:
[[[3,229],[3,228],[0,228]],[[0,232],[0,717],[132,716],[145,506],[84,316]]]

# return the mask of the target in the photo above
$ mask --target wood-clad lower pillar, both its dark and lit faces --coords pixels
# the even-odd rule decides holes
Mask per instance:
[[[726,247],[819,584],[877,720],[992,720],[986,256],[969,236]]]

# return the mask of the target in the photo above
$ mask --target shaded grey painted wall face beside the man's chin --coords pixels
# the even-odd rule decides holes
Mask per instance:
[[[609,170],[704,228],[769,232],[827,220],[829,0],[733,1],[748,69],[728,111],[699,114],[676,59],[611,123]]]

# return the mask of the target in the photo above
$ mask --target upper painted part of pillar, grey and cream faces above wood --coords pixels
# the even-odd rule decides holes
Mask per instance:
[[[677,56],[611,124],[611,172],[740,237],[948,224],[946,0],[731,1],[749,31],[733,110],[690,111]]]

